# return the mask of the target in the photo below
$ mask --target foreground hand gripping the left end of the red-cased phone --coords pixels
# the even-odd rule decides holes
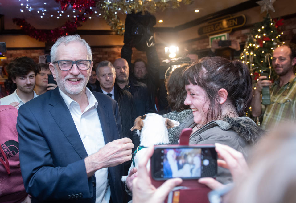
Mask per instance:
[[[146,167],[148,159],[153,154],[153,147],[147,151],[147,155],[139,162],[138,177],[133,180],[133,203],[162,203],[171,189],[182,183],[182,179],[169,179],[156,189],[151,184]]]

